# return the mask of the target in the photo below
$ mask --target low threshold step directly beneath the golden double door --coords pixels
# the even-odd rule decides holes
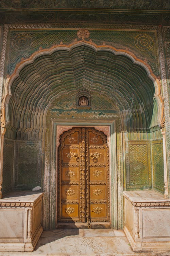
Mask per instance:
[[[92,229],[99,229],[99,228],[111,228],[111,223],[109,222],[91,222],[90,227]],[[64,223],[64,222],[58,222],[56,225],[56,228],[60,229],[89,229],[87,223]]]

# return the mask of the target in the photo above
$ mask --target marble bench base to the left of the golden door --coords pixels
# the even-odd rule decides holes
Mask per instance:
[[[32,252],[43,232],[43,193],[13,191],[0,199],[0,251]]]

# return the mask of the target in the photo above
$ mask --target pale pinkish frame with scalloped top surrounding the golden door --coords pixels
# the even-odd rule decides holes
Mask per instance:
[[[52,226],[57,224],[57,177],[58,177],[58,147],[60,146],[60,136],[64,131],[68,131],[73,127],[93,127],[96,130],[104,132],[107,136],[107,144],[109,146],[109,170],[110,170],[110,222],[112,228],[117,228],[118,223],[118,195],[117,195],[117,156],[116,156],[116,125],[115,121],[67,121],[63,120],[52,120],[51,128],[53,131],[52,141],[51,141],[51,183],[55,183],[55,193],[50,191],[51,196],[51,222]],[[54,221],[55,219],[55,221]]]

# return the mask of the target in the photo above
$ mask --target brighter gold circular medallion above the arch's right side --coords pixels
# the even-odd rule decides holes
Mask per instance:
[[[140,51],[149,51],[153,47],[153,39],[147,34],[140,34],[135,37],[135,46]]]

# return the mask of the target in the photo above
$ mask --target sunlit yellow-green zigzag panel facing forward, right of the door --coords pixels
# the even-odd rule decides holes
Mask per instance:
[[[126,189],[151,188],[149,141],[126,142]]]

